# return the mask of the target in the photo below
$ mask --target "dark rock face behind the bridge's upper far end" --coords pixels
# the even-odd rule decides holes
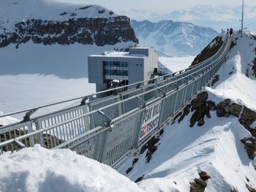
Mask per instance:
[[[202,61],[205,61],[207,58],[210,58],[212,55],[217,53],[220,47],[223,45],[222,37],[217,36],[211,43],[202,50],[202,52],[197,55],[197,57],[192,62],[191,66],[199,64]]]

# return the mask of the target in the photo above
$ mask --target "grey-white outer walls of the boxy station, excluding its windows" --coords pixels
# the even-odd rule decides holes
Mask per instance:
[[[137,57],[137,54],[140,55]],[[145,57],[141,56],[141,54],[145,55]],[[154,68],[158,67],[158,55],[154,53],[153,47],[130,48],[129,56],[127,57],[91,55],[88,58],[89,82],[102,84],[97,86],[97,91],[102,91],[106,86],[103,61],[128,62],[129,84],[150,80],[154,73]]]

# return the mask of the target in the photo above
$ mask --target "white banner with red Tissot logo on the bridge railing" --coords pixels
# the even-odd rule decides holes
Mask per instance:
[[[159,123],[159,115],[161,111],[162,102],[159,101],[157,104],[151,105],[146,110],[146,115],[143,120],[143,125],[140,132],[140,139],[146,137],[154,128],[157,128]]]

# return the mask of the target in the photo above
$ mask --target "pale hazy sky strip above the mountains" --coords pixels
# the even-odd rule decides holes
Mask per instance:
[[[176,9],[187,9],[198,4],[217,5],[241,5],[242,0],[59,0],[78,2],[83,4],[99,4],[114,12],[127,11],[129,9],[146,9],[151,12],[170,12]],[[256,0],[244,0],[247,6],[256,6]]]

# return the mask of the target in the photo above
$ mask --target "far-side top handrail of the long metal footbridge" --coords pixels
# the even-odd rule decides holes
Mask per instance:
[[[223,42],[223,45],[225,45],[225,42],[227,41],[227,39],[228,38],[226,36],[225,40]],[[222,47],[223,47],[223,45],[222,45]],[[57,105],[57,104],[63,104],[63,103],[67,103],[69,101],[75,101],[75,100],[78,100],[78,99],[85,99],[85,98],[89,99],[92,96],[97,96],[97,95],[102,94],[102,93],[108,93],[110,91],[116,91],[116,90],[119,90],[119,89],[122,89],[122,88],[129,88],[129,87],[131,87],[133,85],[140,85],[140,84],[142,84],[144,82],[150,82],[152,80],[160,80],[163,77],[168,77],[168,76],[171,76],[170,78],[178,77],[178,76],[181,76],[181,74],[183,74],[184,72],[189,72],[189,70],[198,68],[200,65],[205,64],[207,61],[210,61],[212,58],[214,58],[214,56],[216,56],[220,52],[220,50],[222,50],[222,47],[217,51],[217,53],[212,55],[210,58],[206,59],[206,61],[202,61],[199,64],[196,64],[194,66],[189,66],[187,69],[182,69],[182,70],[180,70],[178,72],[165,74],[165,75],[162,75],[162,76],[159,76],[159,77],[155,77],[155,78],[150,79],[150,80],[144,80],[144,81],[140,81],[140,82],[135,82],[135,83],[132,83],[132,84],[129,84],[129,85],[124,85],[124,86],[121,86],[121,87],[118,87],[118,88],[111,88],[111,89],[108,89],[108,90],[105,90],[105,91],[99,91],[97,93],[90,93],[90,94],[87,94],[85,96],[79,96],[79,97],[72,98],[72,99],[64,99],[62,101],[54,101],[54,102],[49,103],[49,104],[39,105],[39,106],[35,106],[35,107],[29,107],[29,108],[26,108],[24,110],[18,110],[18,111],[14,111],[14,112],[7,112],[7,113],[4,113],[4,114],[0,114],[0,118],[4,118],[4,117],[10,116],[10,115],[20,114],[22,112],[29,112],[31,110],[39,110],[39,109],[42,109],[42,108],[45,108],[45,107],[50,107],[50,106]]]

